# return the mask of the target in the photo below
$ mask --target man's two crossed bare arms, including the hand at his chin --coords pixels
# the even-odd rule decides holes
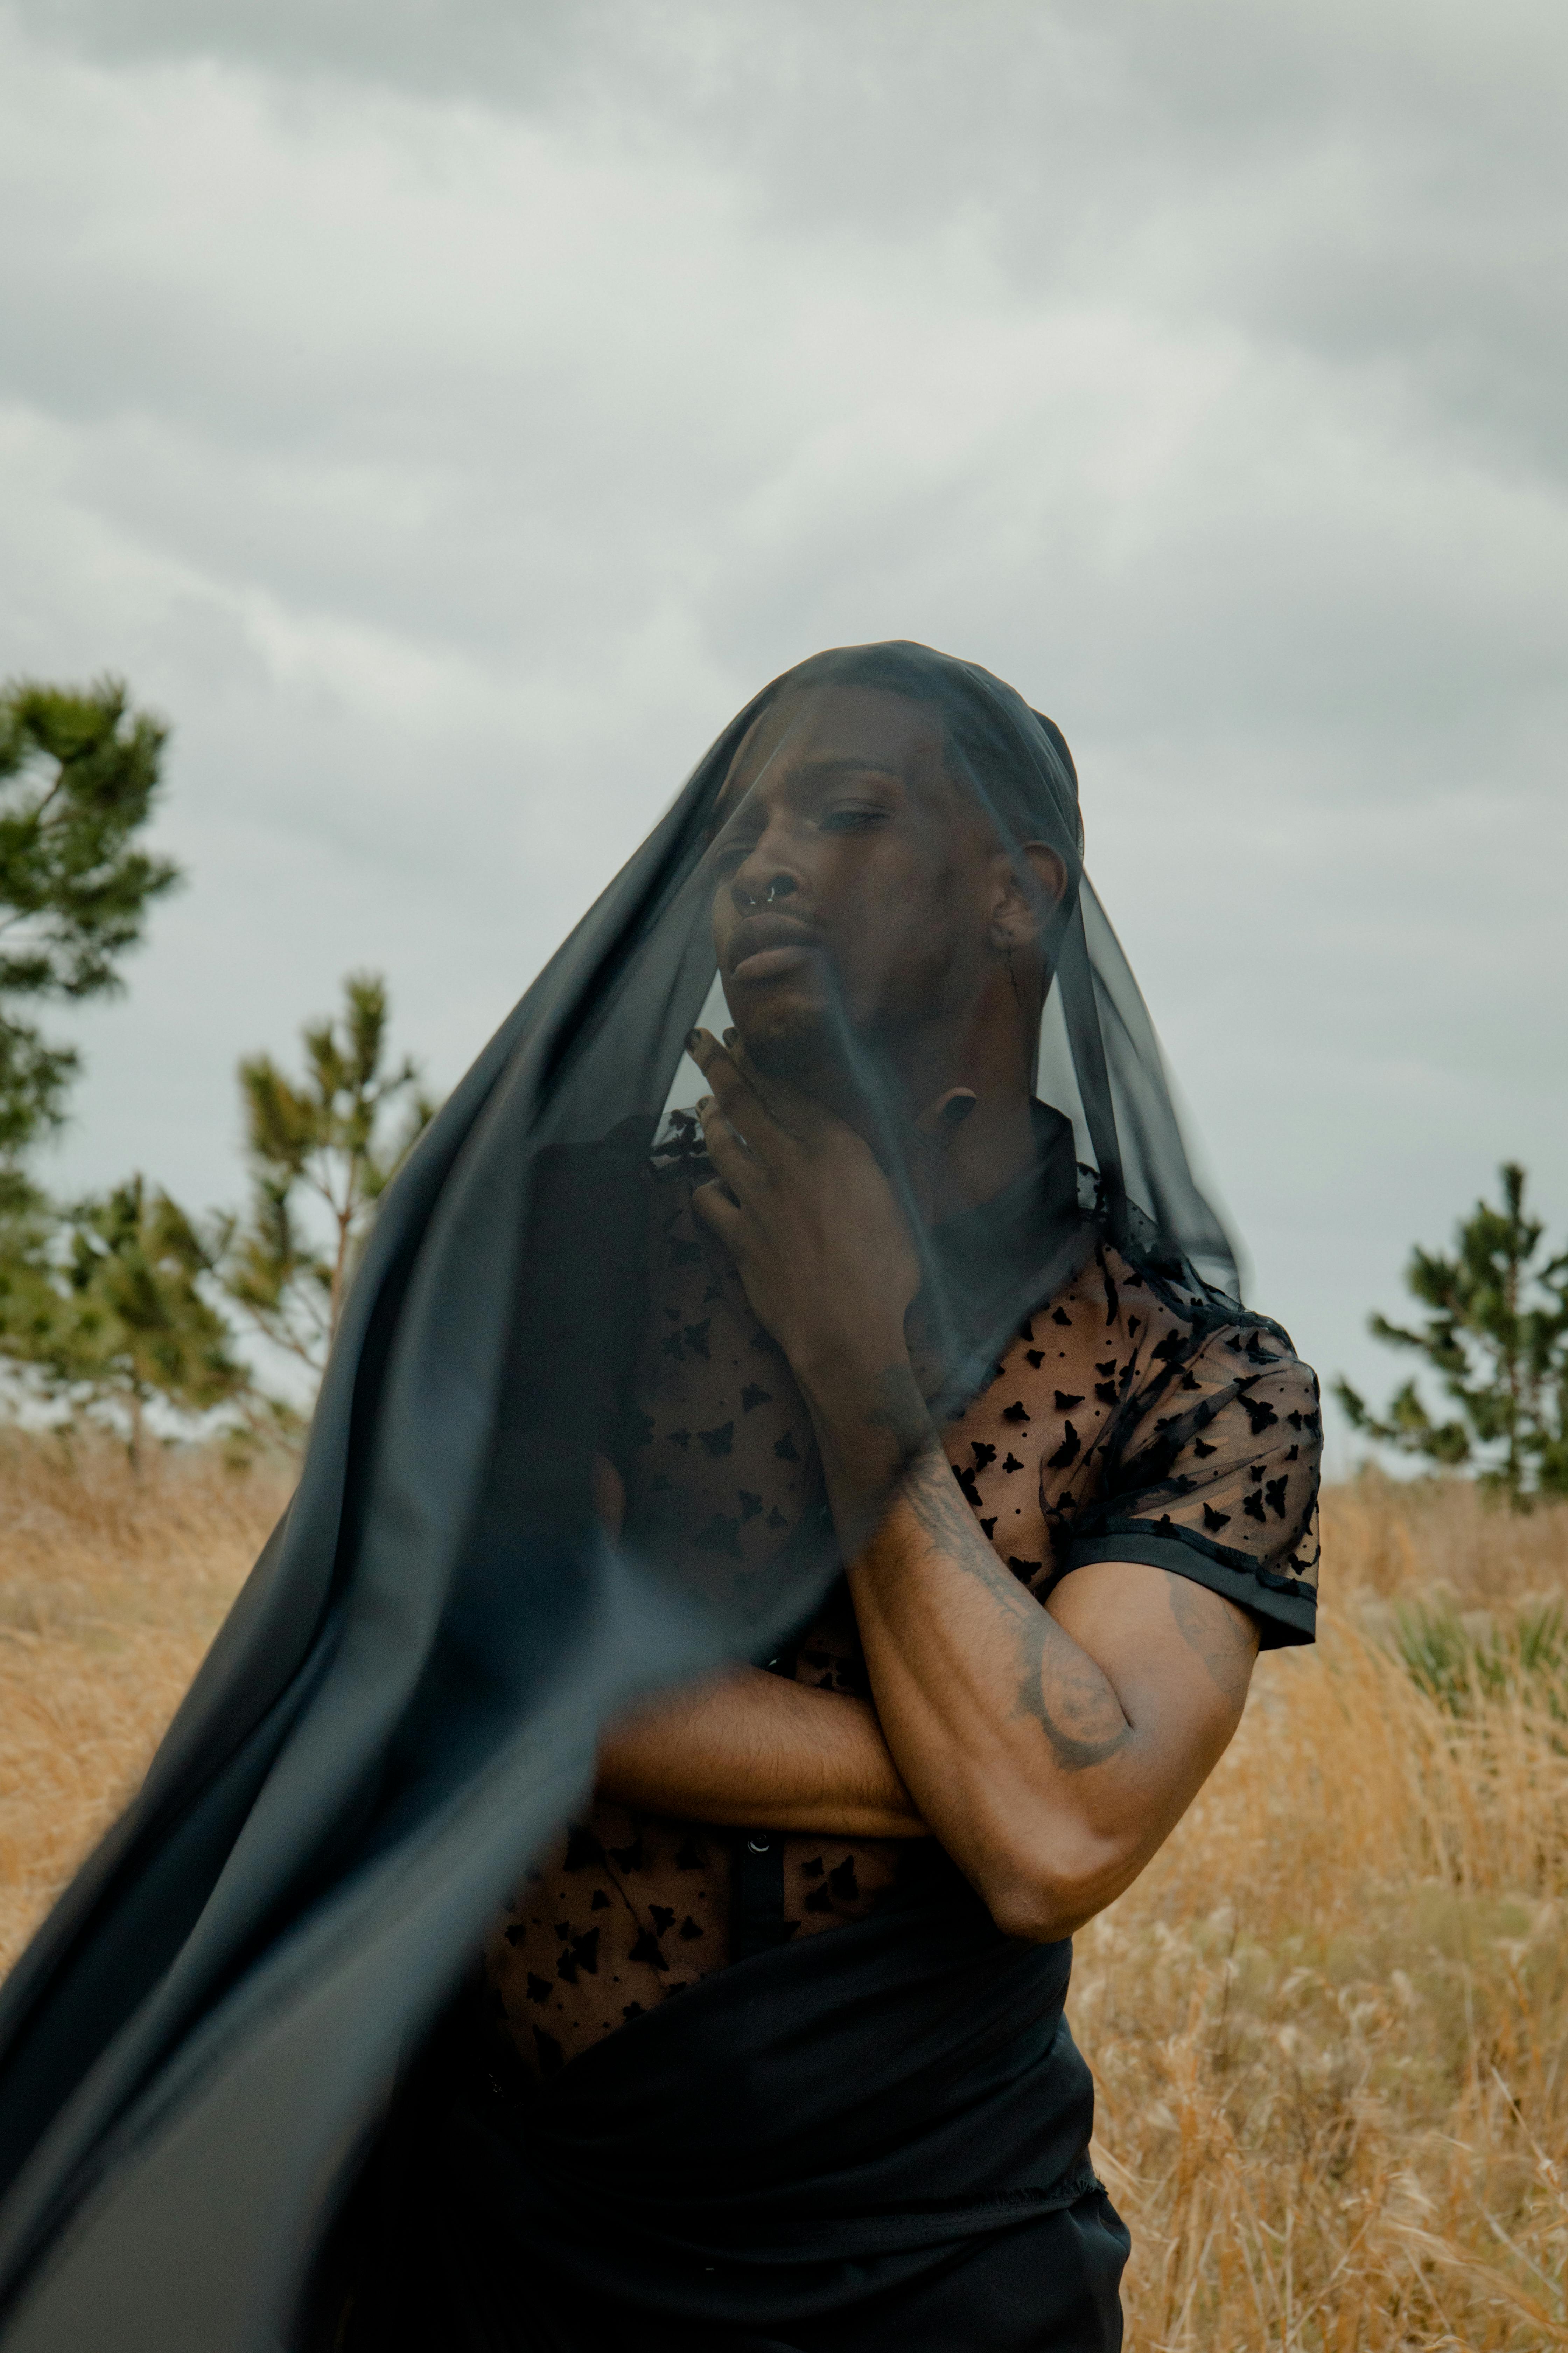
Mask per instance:
[[[1044,1607],[1013,1579],[914,1381],[910,1271],[867,1249],[893,1231],[872,1214],[870,1153],[837,1120],[778,1129],[719,1056],[708,1040],[708,1146],[736,1198],[710,1188],[698,1205],[811,1409],[875,1704],[741,1668],[614,1727],[599,1788],[717,1824],[933,1833],[999,1927],[1070,1937],[1138,1875],[1225,1751],[1255,1624],[1140,1562],[1081,1567]],[[860,1217],[856,1193],[870,1195]],[[802,1282],[813,1259],[820,1280]],[[806,1325],[799,1301],[818,1301]]]

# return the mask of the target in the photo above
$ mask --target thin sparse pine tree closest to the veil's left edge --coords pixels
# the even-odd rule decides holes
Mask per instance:
[[[355,972],[341,1016],[301,1031],[303,1080],[270,1054],[240,1064],[252,1207],[221,1231],[216,1254],[237,1306],[313,1372],[327,1362],[374,1205],[433,1113],[418,1066],[386,1064],[386,981]]]

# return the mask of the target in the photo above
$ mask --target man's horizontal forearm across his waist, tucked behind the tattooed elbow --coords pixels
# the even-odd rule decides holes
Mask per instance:
[[[867,1701],[750,1666],[611,1725],[599,1793],[745,1828],[926,1835]]]

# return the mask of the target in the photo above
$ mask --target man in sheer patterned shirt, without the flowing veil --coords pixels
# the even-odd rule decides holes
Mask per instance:
[[[1067,1939],[1190,1805],[1265,1631],[1309,1631],[1316,1388],[1274,1327],[1077,1214],[1072,1127],[1032,1099],[1065,859],[999,838],[938,708],[806,671],[736,751],[708,873],[733,1028],[693,1031],[710,1092],[646,1172],[651,1313],[597,1492],[642,1555],[736,1577],[825,1504],[844,1569],[766,1666],[611,1727],[592,1809],[489,1937],[522,2061],[503,2120],[470,2113],[421,2195],[484,2212],[508,2181],[571,2346],[1114,2344],[1126,2231],[1088,2162]],[[926,1313],[914,1228],[976,1339],[1006,1301],[983,1369]],[[985,1955],[985,2059],[943,2035],[912,2064],[893,2000],[837,2026],[851,1953],[806,1939],[851,1922],[943,1998],[954,1932]],[[929,2007],[922,1981],[926,2038]],[[682,2179],[661,2115],[628,2198],[651,2073],[703,2085],[701,2158]],[[820,2113],[844,2073],[879,2085],[853,2134]],[[581,2144],[607,2113],[614,2174]],[[759,2179],[797,2240],[832,2209],[844,2252],[764,2261]],[[487,2259],[451,2245],[473,2294]],[[421,2325],[458,2292],[428,2287]],[[494,2341],[534,2344],[489,2292]]]

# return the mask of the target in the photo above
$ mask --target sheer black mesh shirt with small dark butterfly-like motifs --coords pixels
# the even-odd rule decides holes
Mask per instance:
[[[616,1452],[628,1537],[745,1595],[825,1504],[790,1367],[691,1209],[708,1174],[691,1148],[646,1172],[651,1315]],[[973,1388],[945,1421],[947,1459],[1041,1602],[1084,1562],[1140,1560],[1246,1607],[1265,1647],[1312,1640],[1319,1386],[1276,1325],[1077,1221],[1070,1271]],[[766,1664],[870,1697],[842,1577]],[[733,1958],[745,1835],[607,1800],[567,1831],[484,1955],[496,2021],[529,2066],[557,2071]],[[818,1833],[780,1845],[785,1937],[863,1918],[931,1852]]]

